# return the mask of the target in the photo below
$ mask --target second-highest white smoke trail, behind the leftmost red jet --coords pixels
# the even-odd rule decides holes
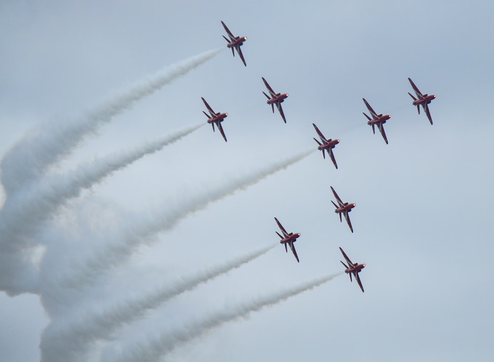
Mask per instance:
[[[166,145],[192,133],[204,124],[206,123],[175,131],[133,151],[97,159],[65,176],[57,175],[53,180],[41,181],[38,185],[30,187],[23,195],[7,199],[0,209],[0,251],[2,259],[4,257],[9,260],[0,263],[0,274],[3,276],[0,290],[14,293],[13,284],[19,283],[16,279],[26,274],[22,269],[27,268],[28,264],[22,261],[22,249],[35,243],[32,238],[39,232],[43,221],[52,216],[61,205],[79,196],[83,189],[101,182],[113,172],[146,155],[160,151]],[[30,278],[35,276],[36,273],[30,273]],[[15,293],[19,292],[18,289],[19,287],[15,287]]]

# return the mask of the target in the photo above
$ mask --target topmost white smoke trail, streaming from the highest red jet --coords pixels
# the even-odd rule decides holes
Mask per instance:
[[[225,48],[206,51],[137,81],[78,121],[49,123],[32,131],[0,161],[0,177],[7,197],[21,186],[38,179],[48,166],[67,156],[84,136],[165,84],[213,58],[223,49]]]

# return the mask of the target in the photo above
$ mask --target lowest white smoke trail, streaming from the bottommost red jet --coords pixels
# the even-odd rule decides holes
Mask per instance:
[[[203,321],[192,322],[184,325],[180,330],[175,331],[172,334],[161,334],[157,339],[149,341],[146,345],[137,344],[132,347],[127,347],[126,350],[113,361],[119,362],[144,362],[144,361],[158,361],[165,354],[171,352],[176,347],[190,342],[194,338],[197,338],[206,332],[218,328],[221,325],[238,320],[239,318],[246,318],[252,312],[257,312],[262,308],[278,304],[286,299],[303,293],[319,286],[323,283],[329,282],[335,277],[343,274],[342,272],[327,275],[318,279],[314,279],[311,282],[306,282],[302,285],[294,286],[289,289],[273,293],[264,297],[258,297],[248,303],[238,305],[231,309],[224,309],[216,314],[210,315]]]

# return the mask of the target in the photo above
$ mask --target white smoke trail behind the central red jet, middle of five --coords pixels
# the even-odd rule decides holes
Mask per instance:
[[[303,160],[312,152],[314,152],[313,149],[292,156],[286,160],[272,163],[255,172],[242,175],[229,182],[217,185],[216,188],[195,198],[184,200],[180,207],[166,209],[159,217],[155,217],[140,225],[127,226],[120,237],[112,238],[113,240],[119,240],[118,243],[105,245],[103,250],[99,251],[93,258],[87,260],[79,267],[79,270],[76,270],[76,272],[68,278],[64,278],[61,284],[73,288],[74,286],[82,286],[88,282],[92,282],[95,278],[99,277],[103,271],[123,263],[138,246],[147,243],[150,240],[150,236],[173,229],[181,220],[195,212],[205,209],[210,203],[222,200],[238,191],[245,190],[266,177],[286,169],[289,165]]]

